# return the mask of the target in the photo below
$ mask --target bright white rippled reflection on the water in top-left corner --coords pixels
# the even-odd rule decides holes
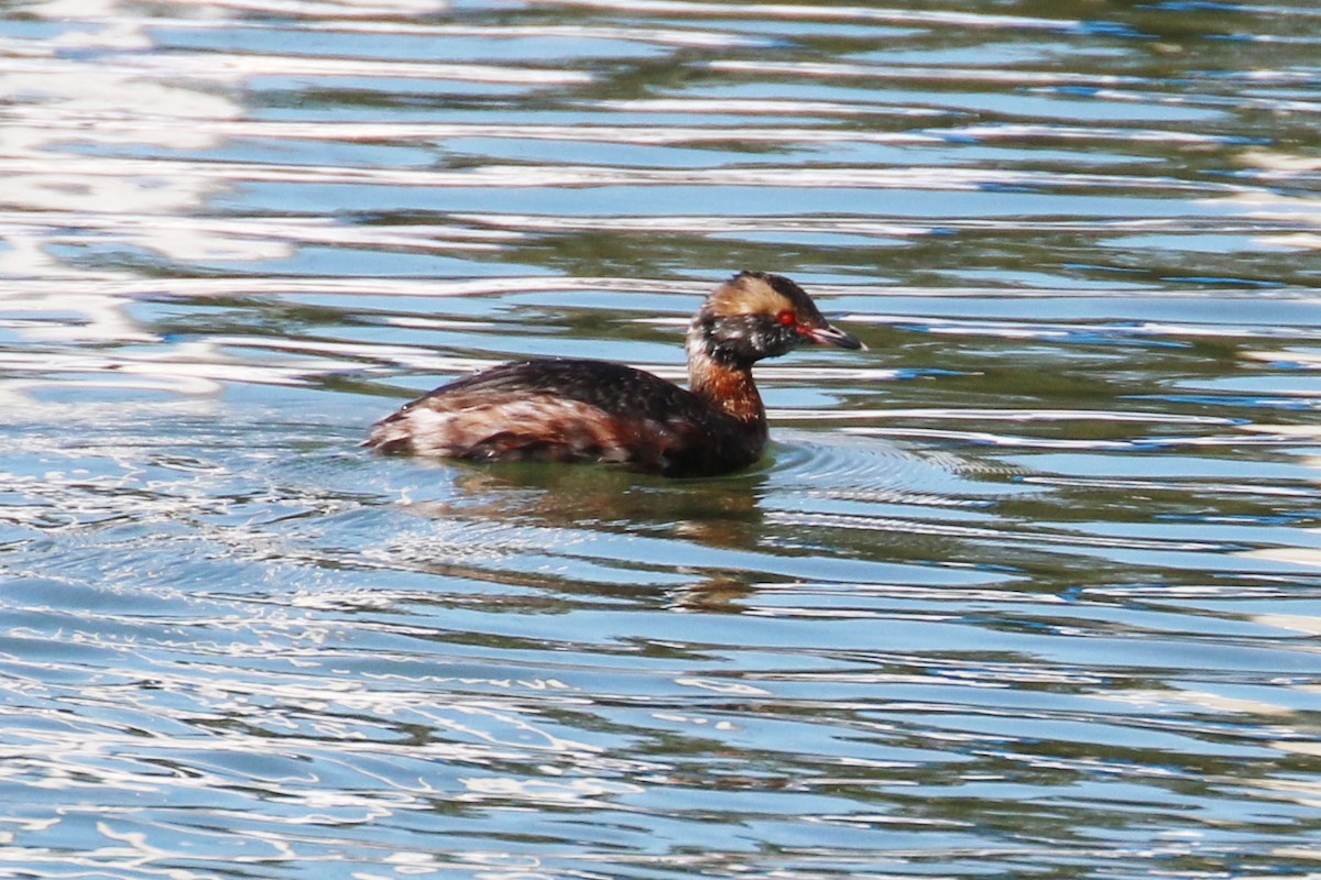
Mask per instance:
[[[46,3],[30,12],[49,28],[32,38],[11,34],[0,40],[0,92],[15,102],[9,123],[0,127],[0,172],[8,208],[0,214],[0,276],[41,278],[42,284],[0,285],[0,329],[42,343],[152,342],[155,334],[128,315],[124,297],[96,289],[96,281],[120,278],[123,273],[79,265],[57,251],[149,251],[161,245],[206,249],[203,237],[188,241],[176,219],[198,212],[215,183],[193,174],[169,174],[164,168],[141,169],[136,160],[87,154],[70,144],[214,146],[218,140],[205,123],[234,119],[240,107],[221,94],[170,82],[166,70],[144,77],[107,63],[115,55],[131,57],[153,45],[147,32],[149,20],[125,15],[122,3]],[[159,129],[151,127],[153,117],[162,123]],[[137,125],[131,133],[104,125],[116,119],[133,119]],[[180,124],[185,120],[189,124]],[[137,215],[139,222],[124,223],[125,214]],[[248,247],[258,252],[269,248],[264,243]],[[107,365],[71,351],[53,355],[40,348],[15,348],[11,355],[9,369],[29,372],[26,379],[5,383],[11,405],[21,401],[28,389],[73,379],[55,379],[53,373],[98,372]],[[170,368],[161,379],[139,387],[213,391],[173,373]]]

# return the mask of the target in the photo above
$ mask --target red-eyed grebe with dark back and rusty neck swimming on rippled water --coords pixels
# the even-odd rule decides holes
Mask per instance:
[[[789,278],[740,272],[688,327],[691,391],[601,360],[524,360],[404,404],[373,425],[366,446],[473,460],[614,462],[668,476],[736,471],[766,445],[752,365],[804,339],[863,347]]]

